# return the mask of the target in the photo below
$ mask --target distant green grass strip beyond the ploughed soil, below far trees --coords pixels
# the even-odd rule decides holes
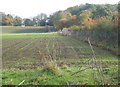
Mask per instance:
[[[52,27],[10,27],[2,26],[2,39],[12,39],[12,38],[37,38],[37,37],[61,37],[57,33],[48,33],[45,30],[52,29]]]

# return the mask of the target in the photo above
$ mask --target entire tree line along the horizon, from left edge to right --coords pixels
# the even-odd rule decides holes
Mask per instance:
[[[113,29],[118,26],[117,4],[84,4],[57,11],[49,17],[45,13],[24,18],[0,12],[3,26],[54,26],[57,29]]]

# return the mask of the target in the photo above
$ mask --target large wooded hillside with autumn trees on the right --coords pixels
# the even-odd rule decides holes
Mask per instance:
[[[58,29],[111,30],[118,27],[119,6],[117,4],[85,4],[57,11],[50,22]]]

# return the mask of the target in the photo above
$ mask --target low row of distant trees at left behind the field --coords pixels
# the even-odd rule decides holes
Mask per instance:
[[[22,19],[19,16],[14,16],[11,14],[5,14],[0,12],[0,24],[3,26],[45,26],[47,25],[47,15],[45,13],[40,13],[33,18]]]

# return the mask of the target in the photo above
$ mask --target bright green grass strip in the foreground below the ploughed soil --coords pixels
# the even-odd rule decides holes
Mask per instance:
[[[84,69],[83,67],[82,69]],[[77,67],[61,67],[61,73],[53,74],[49,71],[44,71],[42,68],[35,70],[6,70],[3,71],[3,84],[18,85],[25,80],[22,85],[66,85],[67,82],[71,84],[85,83],[87,85],[101,84],[100,81],[93,79],[93,70],[87,69],[76,75],[71,76],[79,70]],[[116,67],[104,68],[104,76],[109,84],[115,85],[117,83],[117,69]],[[88,78],[89,77],[89,78]],[[74,81],[74,82],[73,82]]]

